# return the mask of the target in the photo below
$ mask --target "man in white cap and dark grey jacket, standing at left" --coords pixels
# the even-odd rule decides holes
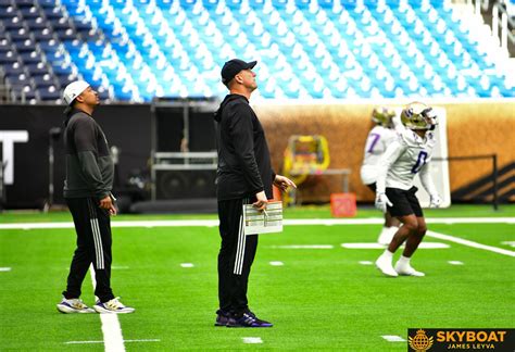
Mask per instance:
[[[78,80],[64,89],[63,98],[67,103],[64,198],[75,224],[77,249],[58,310],[62,313],[133,313],[134,309],[122,304],[111,290],[110,216],[116,215],[111,193],[114,166],[105,135],[91,117],[100,102],[99,97],[88,83]],[[95,310],[79,299],[90,264],[97,281]]]

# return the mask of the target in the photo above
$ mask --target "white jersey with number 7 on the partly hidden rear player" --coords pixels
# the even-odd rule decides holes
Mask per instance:
[[[387,147],[397,139],[397,131],[380,125],[369,133],[365,143],[361,180],[364,185],[372,185],[377,180],[378,164]]]

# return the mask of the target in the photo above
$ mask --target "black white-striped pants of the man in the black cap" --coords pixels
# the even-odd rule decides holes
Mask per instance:
[[[218,253],[219,309],[241,314],[248,309],[247,288],[258,235],[244,236],[242,205],[248,200],[218,201],[219,235],[222,246]]]

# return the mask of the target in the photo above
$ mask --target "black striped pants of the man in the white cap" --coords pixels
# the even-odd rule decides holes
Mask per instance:
[[[97,287],[95,296],[101,302],[114,298],[111,290],[111,219],[108,211],[99,208],[95,198],[66,199],[77,232],[77,249],[73,254],[66,291],[66,299],[79,298],[80,287],[92,263]]]

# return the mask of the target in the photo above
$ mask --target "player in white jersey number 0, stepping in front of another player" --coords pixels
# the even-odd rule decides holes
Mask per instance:
[[[388,146],[379,162],[377,176],[376,208],[389,211],[399,218],[402,226],[393,236],[388,248],[377,259],[376,266],[387,276],[425,276],[410,263],[413,253],[426,234],[426,221],[416,198],[417,188],[413,179],[419,174],[420,181],[430,196],[430,206],[441,203],[429,173],[429,162],[435,147],[432,130],[437,125],[435,111],[420,102],[406,105],[401,113],[404,130]],[[392,266],[393,253],[405,242],[405,249]]]

